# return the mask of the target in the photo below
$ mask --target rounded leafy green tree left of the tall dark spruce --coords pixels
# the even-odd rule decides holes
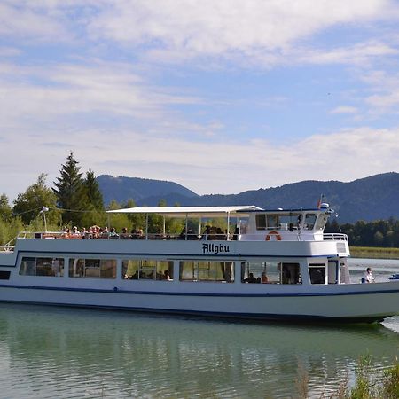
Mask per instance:
[[[42,173],[35,184],[27,187],[27,191],[18,194],[17,199],[14,200],[14,215],[20,215],[24,224],[31,223],[38,216],[41,217],[43,207],[52,208],[48,214],[50,223],[59,222],[59,213],[54,212],[57,199],[51,189],[46,186],[46,177],[47,175]]]

